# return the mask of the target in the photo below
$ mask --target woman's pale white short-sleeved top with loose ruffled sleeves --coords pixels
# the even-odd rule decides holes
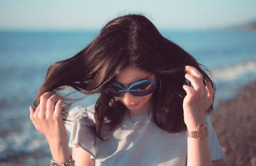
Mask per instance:
[[[124,116],[122,123],[113,131],[102,130],[108,140],[95,137],[92,130],[94,107],[75,107],[68,112],[65,124],[70,132],[68,146],[79,145],[88,151],[95,165],[186,165],[188,137],[186,132],[168,133],[150,120],[148,112]],[[220,142],[212,128],[209,116],[209,149],[211,159],[225,158]]]

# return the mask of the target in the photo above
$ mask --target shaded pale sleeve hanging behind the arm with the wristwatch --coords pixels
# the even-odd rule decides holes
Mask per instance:
[[[208,144],[209,144],[209,149],[211,153],[211,159],[212,161],[216,160],[221,160],[225,158],[225,155],[222,151],[222,148],[220,146],[220,142],[216,136],[216,133],[214,132],[214,129],[212,128],[212,123],[210,120],[209,115],[205,117],[206,123],[209,126],[209,136],[208,136]]]

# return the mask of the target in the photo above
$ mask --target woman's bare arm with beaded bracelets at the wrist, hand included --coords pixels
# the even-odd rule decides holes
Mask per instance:
[[[56,103],[55,108],[54,103]],[[30,119],[36,130],[45,135],[51,149],[52,159],[56,162],[63,162],[70,158],[68,135],[61,117],[62,105],[60,96],[50,91],[40,96],[40,104],[36,110],[29,107]],[[94,165],[90,160],[90,154],[79,146],[73,148],[72,158],[76,163],[71,163],[70,166]]]

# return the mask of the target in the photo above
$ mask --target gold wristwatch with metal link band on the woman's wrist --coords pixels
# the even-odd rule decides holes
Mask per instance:
[[[193,139],[205,139],[209,135],[208,125],[202,124],[197,130],[187,130],[187,135]]]

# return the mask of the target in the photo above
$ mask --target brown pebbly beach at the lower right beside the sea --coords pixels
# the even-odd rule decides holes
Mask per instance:
[[[234,98],[221,100],[210,114],[226,158],[216,165],[256,165],[256,80],[237,89]],[[225,163],[225,164],[223,164]]]

